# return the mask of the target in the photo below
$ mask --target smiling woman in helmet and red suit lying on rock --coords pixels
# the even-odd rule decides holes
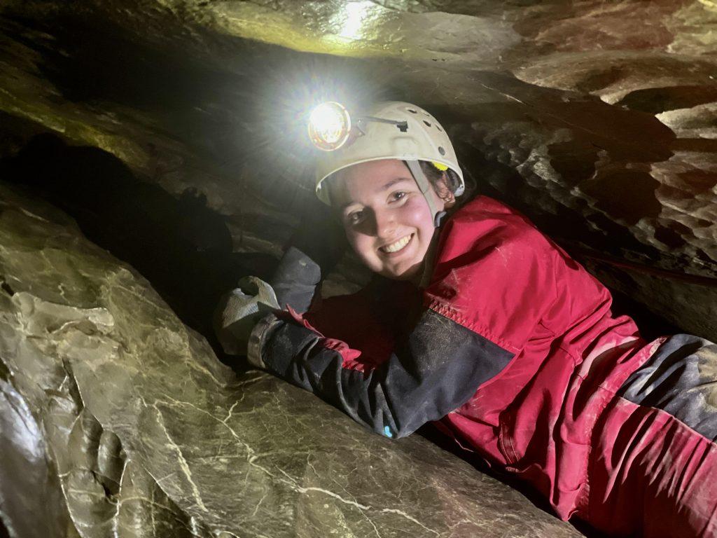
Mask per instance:
[[[716,346],[644,341],[612,316],[602,284],[500,202],[478,197],[441,224],[463,188],[445,131],[409,103],[365,117],[320,159],[317,193],[387,280],[301,315],[319,274],[290,249],[276,287],[295,309],[261,317],[272,290],[245,281],[220,339],[381,435],[437,421],[561,519],[620,536],[717,535]],[[287,269],[298,267],[308,278]]]

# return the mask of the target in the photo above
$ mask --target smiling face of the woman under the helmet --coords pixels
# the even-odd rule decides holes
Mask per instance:
[[[440,211],[445,202],[430,189]],[[354,164],[336,174],[331,202],[364,264],[395,280],[420,278],[435,227],[428,203],[403,161]]]

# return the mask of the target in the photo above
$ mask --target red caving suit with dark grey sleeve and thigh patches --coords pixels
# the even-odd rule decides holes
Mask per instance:
[[[525,217],[478,197],[442,226],[427,288],[330,298],[276,324],[261,353],[381,435],[437,421],[561,519],[717,536],[716,346],[647,343],[611,303]]]

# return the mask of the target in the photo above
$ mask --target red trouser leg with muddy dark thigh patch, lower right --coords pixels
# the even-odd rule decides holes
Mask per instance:
[[[587,518],[619,536],[717,532],[717,346],[664,339],[594,428]],[[647,514],[636,518],[635,514]]]

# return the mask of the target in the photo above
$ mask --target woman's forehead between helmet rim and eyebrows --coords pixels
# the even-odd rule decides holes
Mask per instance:
[[[394,180],[413,182],[406,164],[398,159],[384,159],[354,164],[336,172],[331,179],[329,192],[331,205],[341,208],[351,202],[361,202],[381,194]]]

